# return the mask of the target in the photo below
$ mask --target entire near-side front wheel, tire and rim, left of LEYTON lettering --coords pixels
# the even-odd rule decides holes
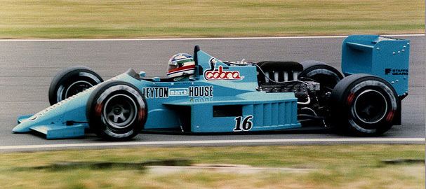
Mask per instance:
[[[98,136],[113,141],[135,137],[147,120],[147,103],[137,87],[123,81],[102,83],[88,99],[88,125]]]

